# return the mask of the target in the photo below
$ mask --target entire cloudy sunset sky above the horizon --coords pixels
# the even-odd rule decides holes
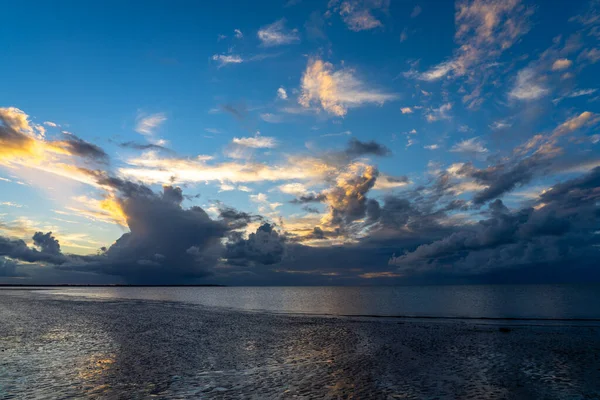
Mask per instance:
[[[20,1],[0,283],[600,281],[600,1]]]

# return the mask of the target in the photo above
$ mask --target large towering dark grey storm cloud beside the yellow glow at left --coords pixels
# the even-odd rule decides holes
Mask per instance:
[[[118,202],[130,232],[100,256],[84,265],[64,266],[116,275],[128,282],[165,283],[211,274],[220,257],[220,240],[229,228],[212,220],[200,207],[184,209],[180,188],[165,186],[162,193],[106,177],[99,183],[120,192]]]

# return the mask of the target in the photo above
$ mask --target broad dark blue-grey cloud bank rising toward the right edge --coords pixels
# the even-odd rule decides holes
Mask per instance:
[[[600,168],[559,183],[541,196],[539,208],[511,212],[500,201],[478,224],[394,257],[402,270],[448,268],[484,273],[527,265],[589,262],[600,255]]]

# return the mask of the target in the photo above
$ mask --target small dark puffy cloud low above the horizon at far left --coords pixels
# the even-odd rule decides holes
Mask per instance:
[[[39,246],[40,250],[27,246],[23,240],[0,236],[0,256],[26,262],[51,264],[63,264],[68,261],[67,257],[60,252],[60,246],[52,236],[52,232],[46,234],[36,232],[33,238],[35,245]]]

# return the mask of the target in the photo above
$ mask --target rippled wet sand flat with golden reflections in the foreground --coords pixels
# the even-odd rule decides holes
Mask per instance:
[[[501,326],[11,290],[0,399],[600,398],[599,327]]]

